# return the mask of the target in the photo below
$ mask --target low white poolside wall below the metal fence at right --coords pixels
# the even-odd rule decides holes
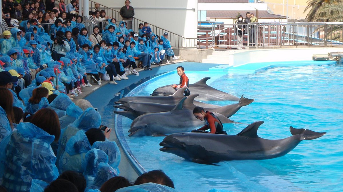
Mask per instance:
[[[342,48],[293,48],[293,49],[264,49],[247,50],[232,53],[231,62],[234,66],[246,63],[261,63],[273,61],[312,60],[314,54],[328,54],[343,51]],[[231,63],[230,62],[230,63]]]

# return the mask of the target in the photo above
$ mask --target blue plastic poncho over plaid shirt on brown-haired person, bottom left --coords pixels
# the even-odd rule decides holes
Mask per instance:
[[[0,144],[2,186],[9,191],[29,191],[32,179],[55,180],[59,174],[50,146],[54,139],[32,123],[18,124],[17,131]],[[17,186],[21,186],[20,189],[16,189]]]

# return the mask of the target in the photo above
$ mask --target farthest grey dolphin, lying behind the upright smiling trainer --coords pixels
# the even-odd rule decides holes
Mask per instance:
[[[217,90],[206,84],[206,81],[211,79],[210,77],[205,77],[199,80],[196,83],[189,84],[188,88],[191,94],[199,94],[197,100],[199,101],[238,101],[239,98],[230,95],[228,93]],[[171,85],[165,85],[162,87],[156,88],[150,96],[170,96],[175,93],[175,89]]]

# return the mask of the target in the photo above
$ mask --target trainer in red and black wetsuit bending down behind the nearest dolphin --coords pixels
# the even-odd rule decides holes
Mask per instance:
[[[210,111],[204,111],[201,107],[195,107],[193,109],[193,115],[195,118],[203,121],[205,120],[205,125],[199,129],[195,129],[192,132],[196,133],[215,133],[215,134],[224,134],[227,135],[225,131],[223,131],[223,124],[220,120]],[[206,131],[210,129],[210,132]]]

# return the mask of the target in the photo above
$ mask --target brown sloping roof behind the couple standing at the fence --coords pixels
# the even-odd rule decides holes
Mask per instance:
[[[255,14],[255,17],[257,17],[256,10],[254,10],[254,11],[249,11],[249,10],[248,11],[242,11],[242,10],[237,10],[237,11],[206,11],[206,17],[210,17],[210,18],[237,18],[238,13],[239,13],[240,15],[243,15],[243,18],[244,18],[246,12],[253,13],[253,14]],[[263,19],[281,18],[281,19],[285,19],[286,16],[271,14],[271,13],[268,13],[268,11],[259,11],[258,12],[258,18],[263,18]]]

